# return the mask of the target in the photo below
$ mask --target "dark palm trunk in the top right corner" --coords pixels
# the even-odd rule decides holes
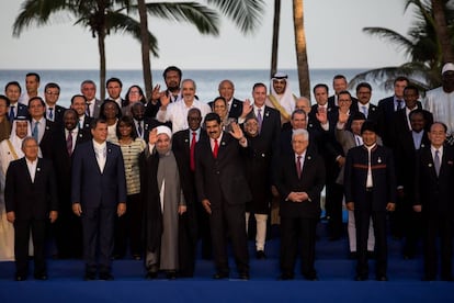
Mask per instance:
[[[439,37],[439,43],[442,54],[442,64],[454,63],[454,50],[451,45],[450,34],[446,25],[446,16],[444,14],[445,0],[432,0],[432,12],[435,26],[435,33]]]

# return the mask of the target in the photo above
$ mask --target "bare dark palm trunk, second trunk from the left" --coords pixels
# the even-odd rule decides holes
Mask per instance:
[[[140,41],[141,41],[141,70],[144,74],[145,94],[147,100],[151,98],[152,76],[150,61],[150,42],[148,38],[148,18],[145,0],[138,0],[137,7],[140,18]]]

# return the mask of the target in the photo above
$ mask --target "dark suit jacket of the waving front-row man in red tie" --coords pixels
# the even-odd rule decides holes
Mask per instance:
[[[209,138],[200,141],[195,148],[195,187],[198,201],[208,199],[212,209],[245,204],[251,200],[246,181],[238,141],[224,132],[217,158],[212,153]]]

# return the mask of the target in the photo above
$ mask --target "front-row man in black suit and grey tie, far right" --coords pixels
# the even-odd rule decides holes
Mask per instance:
[[[415,211],[423,218],[424,277],[436,279],[436,238],[440,236],[441,279],[453,281],[454,150],[445,144],[446,125],[432,124],[430,146],[421,147],[417,157]]]

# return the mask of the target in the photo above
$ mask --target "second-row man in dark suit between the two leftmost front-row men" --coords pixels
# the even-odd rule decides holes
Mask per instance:
[[[53,144],[53,162],[57,176],[59,218],[54,225],[58,258],[82,257],[82,225],[72,213],[71,167],[76,147],[89,139],[78,127],[78,114],[69,109],[64,113],[63,126],[56,131]]]

